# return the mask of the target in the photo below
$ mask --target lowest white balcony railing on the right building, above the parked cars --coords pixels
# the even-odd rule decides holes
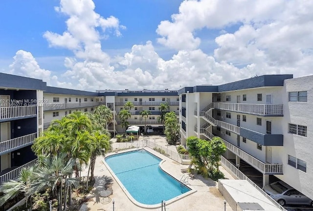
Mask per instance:
[[[253,166],[255,169],[258,169],[264,174],[283,174],[283,164],[266,164],[262,161],[256,159],[252,155],[246,153],[244,150],[230,144],[229,142],[224,141],[227,149],[233,152],[235,155],[238,155],[241,159],[246,161],[246,163]]]

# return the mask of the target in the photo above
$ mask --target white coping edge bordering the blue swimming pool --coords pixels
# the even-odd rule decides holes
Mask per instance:
[[[166,171],[162,168],[162,164],[163,164],[164,162],[166,162],[166,160],[160,158],[160,157],[157,156],[155,153],[153,153],[153,152],[155,152],[155,151],[152,152],[152,151],[150,151],[150,150],[147,150],[146,148],[142,148],[142,149],[146,150],[147,152],[149,152],[149,153],[153,154],[154,156],[158,157],[159,159],[161,159],[161,161],[160,161],[160,163],[159,163],[160,169],[161,169],[162,171],[164,171],[164,173],[168,174],[168,175],[171,176],[173,179],[175,179],[175,180],[177,180],[177,181],[179,182],[178,179],[176,179],[174,176],[172,176],[170,173],[166,172]],[[144,208],[144,209],[157,209],[157,208],[160,208],[160,207],[162,206],[161,203],[159,203],[159,204],[154,204],[154,205],[147,205],[147,204],[142,204],[142,203],[138,202],[137,200],[135,200],[134,197],[133,197],[133,196],[128,192],[128,190],[124,187],[123,183],[118,179],[118,177],[117,177],[117,176],[115,175],[115,173],[112,171],[112,169],[110,168],[110,166],[105,162],[105,159],[106,159],[107,157],[112,156],[112,155],[121,154],[121,153],[124,153],[124,152],[136,151],[136,150],[139,150],[139,149],[138,149],[138,148],[134,148],[134,149],[123,150],[123,151],[120,151],[120,152],[116,152],[116,153],[110,154],[110,155],[106,156],[106,157],[102,160],[102,162],[103,162],[103,164],[105,165],[105,167],[109,170],[109,172],[111,173],[112,177],[115,179],[115,181],[117,182],[117,184],[121,187],[121,189],[124,191],[124,193],[126,194],[126,196],[129,198],[129,200],[131,200],[131,202],[132,202],[134,205],[136,205],[137,207],[140,207],[140,208]],[[180,194],[180,195],[178,195],[178,196],[176,196],[176,197],[174,197],[174,198],[172,198],[172,199],[170,199],[170,200],[168,200],[168,201],[166,201],[166,202],[165,202],[166,205],[172,204],[172,203],[174,203],[174,202],[176,202],[176,201],[178,201],[178,200],[180,200],[180,199],[182,199],[182,198],[184,198],[184,197],[186,197],[186,196],[188,196],[188,195],[191,195],[191,194],[197,192],[197,190],[193,190],[192,188],[190,188],[189,186],[187,186],[187,185],[185,185],[185,184],[183,184],[183,185],[186,186],[187,188],[189,188],[190,190],[187,191],[187,192],[185,192],[185,193],[183,193],[183,194]]]

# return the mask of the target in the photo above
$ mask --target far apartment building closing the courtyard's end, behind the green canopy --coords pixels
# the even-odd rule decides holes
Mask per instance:
[[[130,110],[131,118],[128,119],[130,125],[144,127],[145,119],[140,115],[140,111],[149,110],[146,120],[147,126],[161,127],[162,123],[157,121],[161,112],[158,110],[160,104],[167,103],[169,111],[175,111],[179,115],[179,96],[176,90],[96,90],[99,96],[104,97],[105,104],[112,109],[113,124],[110,125],[109,131],[123,132],[120,126],[119,112],[124,108],[127,102],[132,102],[134,108]]]

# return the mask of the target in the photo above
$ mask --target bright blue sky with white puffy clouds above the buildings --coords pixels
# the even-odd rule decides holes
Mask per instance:
[[[90,91],[302,77],[312,11],[312,0],[3,0],[0,72]]]

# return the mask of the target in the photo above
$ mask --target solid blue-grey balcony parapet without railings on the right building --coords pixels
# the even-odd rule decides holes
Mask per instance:
[[[240,136],[263,146],[284,146],[283,134],[263,134],[241,127]]]

